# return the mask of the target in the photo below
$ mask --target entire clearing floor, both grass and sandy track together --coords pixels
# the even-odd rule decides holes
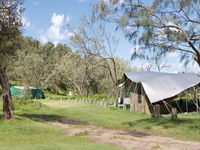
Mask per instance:
[[[38,102],[42,103],[41,108],[37,107]],[[47,100],[18,102],[15,109],[15,119],[0,121],[2,150],[13,147],[14,150],[198,150],[200,147],[198,114],[179,115],[176,121],[170,120],[170,116],[155,120],[125,110]]]

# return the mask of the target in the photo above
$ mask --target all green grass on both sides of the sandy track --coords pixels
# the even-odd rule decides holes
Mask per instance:
[[[155,119],[130,111],[50,100],[15,101],[14,108],[15,119],[0,120],[1,150],[120,150],[84,137],[87,132],[67,136],[66,129],[51,125],[74,120],[200,142],[200,116],[195,113],[178,115],[177,120],[171,120],[169,115]]]

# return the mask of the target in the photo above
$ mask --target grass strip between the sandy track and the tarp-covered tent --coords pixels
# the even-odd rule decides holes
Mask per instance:
[[[171,120],[170,115],[151,118],[142,113],[108,109],[90,104],[58,101],[44,103],[51,104],[51,114],[60,114],[69,119],[81,120],[105,128],[140,131],[200,142],[200,115],[197,113],[179,114],[177,120]]]

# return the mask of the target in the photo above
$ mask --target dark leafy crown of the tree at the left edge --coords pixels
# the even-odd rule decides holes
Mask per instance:
[[[21,34],[22,0],[0,1],[0,63],[5,63],[19,47]]]

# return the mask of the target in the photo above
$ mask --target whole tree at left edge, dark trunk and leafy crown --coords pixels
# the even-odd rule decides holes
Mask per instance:
[[[13,118],[12,98],[6,75],[9,59],[19,47],[22,27],[22,0],[0,1],[0,85],[2,87],[3,114],[5,119]]]

